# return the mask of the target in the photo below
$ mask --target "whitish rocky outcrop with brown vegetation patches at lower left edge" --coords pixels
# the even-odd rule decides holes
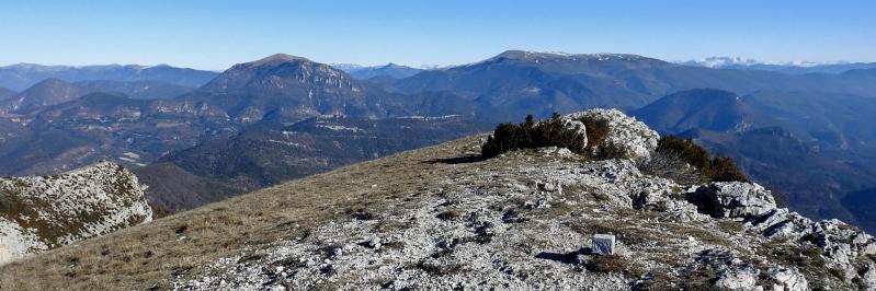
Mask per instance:
[[[110,162],[0,178],[0,264],[150,221],[143,190],[133,173]]]

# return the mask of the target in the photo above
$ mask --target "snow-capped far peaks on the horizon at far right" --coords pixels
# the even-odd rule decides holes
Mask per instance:
[[[764,62],[732,57],[709,57],[702,60],[680,61],[679,63],[712,69],[762,70],[784,73],[841,73],[857,69],[876,69],[876,62]]]

